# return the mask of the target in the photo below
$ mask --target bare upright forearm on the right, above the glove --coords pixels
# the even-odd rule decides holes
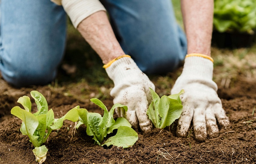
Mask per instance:
[[[213,0],[181,0],[188,54],[201,53],[211,56],[213,9]]]

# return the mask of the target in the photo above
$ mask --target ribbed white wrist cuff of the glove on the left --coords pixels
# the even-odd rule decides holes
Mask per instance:
[[[130,78],[132,78],[132,76],[136,72],[141,72],[141,70],[133,61],[133,59],[131,59],[129,55],[127,56],[123,55],[120,56],[119,59],[114,59],[110,66],[105,68],[108,76],[114,82],[115,85],[118,84],[121,80],[130,80]]]

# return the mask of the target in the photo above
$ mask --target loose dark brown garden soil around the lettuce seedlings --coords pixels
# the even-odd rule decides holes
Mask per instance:
[[[161,88],[157,81],[153,82]],[[10,114],[11,108],[19,105],[16,102],[18,98],[23,95],[30,96],[31,90],[38,90],[47,98],[55,118],[63,116],[76,105],[103,114],[99,107],[89,101],[90,96],[99,95],[99,89],[86,83],[79,83],[72,88],[66,88],[65,85],[47,85],[16,89],[0,79],[0,85],[0,164],[38,163],[35,161],[29,138],[19,131],[21,120]],[[156,91],[161,94],[161,90]],[[106,92],[109,94],[109,90]],[[49,151],[44,163],[256,163],[256,111],[253,114],[256,106],[255,92],[255,79],[252,81],[237,78],[229,88],[220,88],[218,95],[230,119],[230,127],[220,129],[218,137],[208,138],[202,143],[195,140],[192,127],[188,137],[176,137],[175,121],[170,127],[154,129],[150,134],[137,131],[138,141],[130,148],[102,147],[95,145],[92,137],[86,135],[85,126],[75,130],[75,123],[64,121],[64,126],[54,130],[45,143]],[[113,105],[110,96],[105,96],[102,101],[108,109]],[[32,107],[35,106],[33,103]]]

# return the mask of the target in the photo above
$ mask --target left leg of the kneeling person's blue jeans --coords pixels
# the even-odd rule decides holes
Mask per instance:
[[[0,70],[14,86],[54,80],[66,42],[66,13],[50,0],[1,0]]]

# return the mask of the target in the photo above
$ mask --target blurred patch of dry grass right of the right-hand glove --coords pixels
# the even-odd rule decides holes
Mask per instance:
[[[214,59],[214,80],[225,85],[234,82],[237,77],[256,79],[256,44],[250,48],[218,49],[212,48]],[[225,81],[225,82],[224,82]],[[220,86],[220,87],[229,87]]]

